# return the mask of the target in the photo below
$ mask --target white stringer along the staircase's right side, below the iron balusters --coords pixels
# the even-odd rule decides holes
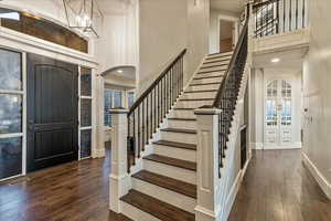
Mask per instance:
[[[244,74],[243,74],[243,78],[241,82],[241,88],[239,88],[239,93],[238,93],[238,98],[237,98],[237,104],[235,106],[235,113],[234,113],[234,119],[232,122],[232,127],[231,127],[231,133],[229,133],[229,137],[228,137],[228,141],[226,143],[227,145],[227,149],[225,150],[225,158],[223,159],[223,165],[224,167],[221,169],[221,178],[220,178],[220,186],[218,186],[218,190],[216,199],[220,199],[220,211],[221,213],[218,214],[216,220],[220,221],[226,221],[228,218],[228,214],[231,212],[232,209],[232,204],[234,202],[236,192],[238,190],[239,183],[242,180],[237,180],[238,178],[241,179],[241,176],[238,176],[241,173],[241,171],[238,172],[238,175],[236,175],[236,179],[234,181],[234,183],[229,183],[229,178],[232,175],[232,167],[234,165],[234,160],[235,160],[235,151],[237,148],[237,141],[239,138],[239,129],[241,129],[241,120],[244,112],[244,97],[245,97],[245,92],[246,92],[246,87],[247,87],[247,83],[248,83],[248,76],[249,76],[249,69],[248,65],[246,64]],[[231,191],[226,192],[226,190],[228,190],[229,185],[232,186]]]

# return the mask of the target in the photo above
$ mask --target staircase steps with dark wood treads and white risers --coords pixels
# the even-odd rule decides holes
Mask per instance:
[[[153,138],[142,148],[151,151],[141,154],[142,169],[131,172],[132,188],[120,198],[126,217],[136,221],[195,220],[197,135],[193,110],[213,104],[231,59],[232,52],[207,55],[170,106],[160,129],[151,133]]]

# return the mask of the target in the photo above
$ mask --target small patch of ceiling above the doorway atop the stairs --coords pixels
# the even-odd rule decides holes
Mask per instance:
[[[239,13],[244,10],[246,0],[211,0],[211,8]]]

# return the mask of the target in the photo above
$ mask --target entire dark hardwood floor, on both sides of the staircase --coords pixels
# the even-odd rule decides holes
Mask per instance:
[[[0,183],[1,221],[128,221],[108,210],[109,151]],[[229,221],[330,221],[299,150],[255,151]]]

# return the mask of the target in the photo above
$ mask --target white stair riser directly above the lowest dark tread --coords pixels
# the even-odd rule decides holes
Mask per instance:
[[[177,193],[174,191],[164,189],[162,187],[142,181],[140,179],[132,178],[134,189],[157,198],[163,202],[178,207],[186,212],[194,213],[194,207],[196,201],[193,198]]]

